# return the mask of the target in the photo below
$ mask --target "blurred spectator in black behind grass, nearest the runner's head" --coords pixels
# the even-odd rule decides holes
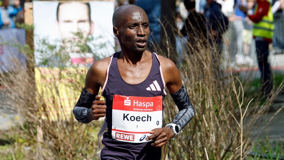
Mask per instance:
[[[184,0],[185,8],[189,12],[180,30],[183,36],[187,36],[188,53],[198,52],[207,42],[207,27],[204,15],[195,10],[195,0]]]

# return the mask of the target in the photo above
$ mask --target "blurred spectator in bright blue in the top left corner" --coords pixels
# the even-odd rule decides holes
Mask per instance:
[[[0,28],[15,28],[13,18],[22,10],[19,0],[14,0],[14,6],[9,4],[9,0],[2,0],[0,7]]]

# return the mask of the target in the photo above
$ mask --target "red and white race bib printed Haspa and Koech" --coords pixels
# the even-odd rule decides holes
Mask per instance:
[[[149,130],[162,126],[162,96],[113,95],[113,139],[133,143],[147,142]]]

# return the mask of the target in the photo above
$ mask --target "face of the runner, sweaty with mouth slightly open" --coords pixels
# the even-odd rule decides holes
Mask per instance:
[[[150,32],[149,20],[146,13],[136,9],[132,12],[125,12],[124,15],[121,16],[117,27],[118,35],[116,35],[121,48],[123,47],[136,52],[144,51]]]

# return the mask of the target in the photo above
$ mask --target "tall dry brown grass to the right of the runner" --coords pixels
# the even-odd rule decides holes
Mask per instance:
[[[269,98],[263,100],[260,88],[251,90],[248,79],[240,81],[230,65],[224,68],[223,64],[230,64],[229,58],[221,59],[221,65],[216,67],[212,60],[212,57],[220,59],[216,48],[203,43],[197,43],[195,47],[199,48],[198,51],[191,44],[185,48],[193,49],[193,54],[185,53],[183,65],[180,66],[195,115],[180,135],[169,143],[169,157],[244,159],[256,138],[249,136],[251,126],[257,126],[259,121],[263,121],[261,115],[267,113],[280,90],[275,89]],[[252,72],[249,77],[253,76],[255,74]],[[166,99],[165,106],[167,123],[175,115],[176,109],[174,111],[172,106],[175,105],[170,98]],[[248,116],[253,118],[247,119]]]

